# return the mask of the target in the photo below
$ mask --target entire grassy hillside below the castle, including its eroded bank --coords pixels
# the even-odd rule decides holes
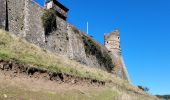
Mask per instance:
[[[3,30],[0,99],[157,100],[112,74],[41,49]]]

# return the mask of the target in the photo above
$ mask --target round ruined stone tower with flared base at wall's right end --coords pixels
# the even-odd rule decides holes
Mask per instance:
[[[129,75],[124,64],[123,57],[121,55],[119,30],[115,30],[111,33],[106,34],[104,39],[105,47],[109,51],[112,62],[114,64],[113,73],[118,77],[130,82]]]

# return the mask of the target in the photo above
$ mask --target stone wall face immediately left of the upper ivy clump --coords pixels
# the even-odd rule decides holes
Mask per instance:
[[[40,47],[45,46],[45,34],[41,16],[44,9],[31,0],[25,0],[24,33],[21,36]]]

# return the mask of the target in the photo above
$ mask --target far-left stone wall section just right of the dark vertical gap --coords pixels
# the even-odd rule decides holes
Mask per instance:
[[[24,31],[24,6],[25,0],[7,0],[8,29],[14,34]]]

